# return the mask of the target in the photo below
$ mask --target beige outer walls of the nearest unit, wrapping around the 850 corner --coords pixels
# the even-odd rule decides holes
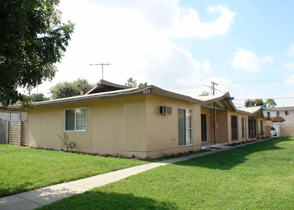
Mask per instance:
[[[170,116],[159,106],[173,107]],[[28,113],[28,146],[66,149],[56,134],[64,132],[65,109],[87,108],[87,130],[67,131],[74,151],[158,157],[201,148],[200,105],[153,94],[35,107]],[[193,109],[193,145],[178,147],[178,107]]]

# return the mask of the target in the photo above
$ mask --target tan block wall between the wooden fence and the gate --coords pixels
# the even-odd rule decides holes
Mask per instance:
[[[22,145],[23,121],[6,121],[6,144]]]

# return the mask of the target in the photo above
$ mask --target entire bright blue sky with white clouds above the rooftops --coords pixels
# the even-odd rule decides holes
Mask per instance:
[[[77,77],[124,85],[129,77],[187,96],[215,82],[236,107],[245,99],[294,106],[294,1],[61,0],[74,22],[49,88]],[[204,86],[206,85],[206,86]],[[36,93],[33,89],[31,93]]]

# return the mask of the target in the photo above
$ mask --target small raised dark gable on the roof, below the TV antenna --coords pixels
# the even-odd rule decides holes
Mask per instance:
[[[116,90],[125,90],[125,89],[131,89],[131,88],[133,87],[114,84],[112,82],[108,82],[106,80],[101,79],[91,90],[86,92],[85,95],[93,94],[93,93],[116,91]]]

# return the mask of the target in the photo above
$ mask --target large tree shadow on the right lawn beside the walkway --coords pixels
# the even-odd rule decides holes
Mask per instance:
[[[196,166],[209,169],[229,170],[247,160],[247,156],[256,152],[277,151],[284,149],[276,144],[283,141],[293,141],[293,138],[279,137],[268,139],[245,146],[237,146],[235,148],[219,151],[205,156],[195,157],[187,161],[174,163],[175,165]],[[256,161],[266,161],[267,156],[258,156]],[[270,159],[269,159],[270,161]]]

